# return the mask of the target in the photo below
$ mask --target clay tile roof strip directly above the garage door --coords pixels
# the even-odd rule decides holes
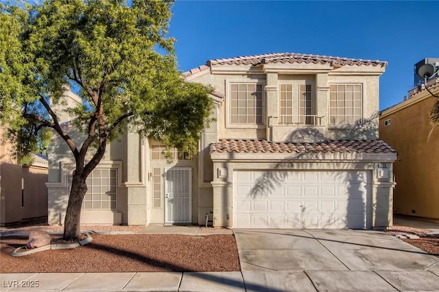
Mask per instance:
[[[274,143],[265,140],[220,140],[212,143],[210,153],[372,153],[396,151],[382,140],[329,140],[319,143]]]

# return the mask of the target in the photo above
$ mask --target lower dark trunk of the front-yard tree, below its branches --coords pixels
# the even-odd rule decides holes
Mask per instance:
[[[80,236],[80,221],[82,199],[87,193],[86,178],[77,173],[73,174],[69,204],[67,205],[66,217],[64,220],[64,236],[62,239],[75,241]]]

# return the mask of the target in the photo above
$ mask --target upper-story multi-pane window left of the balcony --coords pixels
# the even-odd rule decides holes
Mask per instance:
[[[230,84],[230,125],[263,124],[263,85],[261,83]]]

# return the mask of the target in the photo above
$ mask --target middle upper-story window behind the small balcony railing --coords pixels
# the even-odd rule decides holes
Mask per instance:
[[[300,84],[294,94],[292,84],[279,86],[279,124],[316,125],[316,116],[313,115],[311,85]]]

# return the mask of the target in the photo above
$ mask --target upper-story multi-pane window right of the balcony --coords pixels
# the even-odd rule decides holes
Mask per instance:
[[[330,125],[362,123],[363,88],[361,84],[331,84],[329,96]]]

